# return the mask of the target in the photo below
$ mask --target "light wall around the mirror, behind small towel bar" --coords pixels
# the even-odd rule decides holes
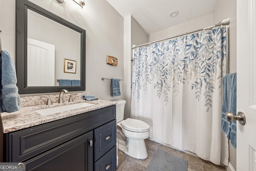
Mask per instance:
[[[110,80],[124,76],[124,18],[106,0],[88,1],[82,9],[72,0],[59,4],[56,0],[30,0],[34,4],[86,30],[86,91],[100,99],[124,98],[110,96]],[[15,59],[15,0],[0,0],[2,48]],[[107,56],[118,58],[118,66],[106,64]]]

